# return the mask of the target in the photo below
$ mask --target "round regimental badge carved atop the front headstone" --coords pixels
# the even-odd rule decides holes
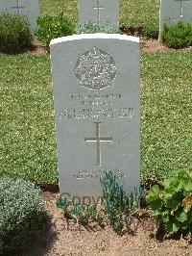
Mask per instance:
[[[112,85],[117,67],[110,54],[94,47],[80,56],[75,74],[81,86],[90,90],[102,90]]]

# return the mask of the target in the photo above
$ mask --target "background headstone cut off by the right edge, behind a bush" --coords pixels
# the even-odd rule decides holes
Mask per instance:
[[[192,0],[161,0],[159,14],[159,38],[164,23],[175,25],[179,21],[192,23]]]

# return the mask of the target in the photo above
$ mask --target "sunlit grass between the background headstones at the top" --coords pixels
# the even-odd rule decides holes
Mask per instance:
[[[147,30],[158,30],[160,0],[120,0],[120,24],[142,25]],[[41,13],[56,15],[63,12],[78,22],[77,0],[40,0]]]

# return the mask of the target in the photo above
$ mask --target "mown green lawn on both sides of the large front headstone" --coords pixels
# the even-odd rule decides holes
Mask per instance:
[[[58,181],[48,56],[0,55],[0,176]],[[192,166],[192,52],[142,56],[141,177]]]

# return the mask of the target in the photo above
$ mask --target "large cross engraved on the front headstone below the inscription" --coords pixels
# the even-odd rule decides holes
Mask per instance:
[[[84,138],[84,142],[96,142],[97,143],[97,166],[102,165],[102,152],[101,142],[112,142],[112,137],[101,137],[101,122],[94,122],[96,124],[96,137]]]

